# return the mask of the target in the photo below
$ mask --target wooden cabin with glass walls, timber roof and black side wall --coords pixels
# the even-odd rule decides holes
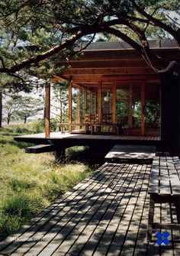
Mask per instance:
[[[153,52],[180,61],[175,41],[151,41]],[[159,136],[179,150],[179,73],[153,70],[124,42],[97,42],[56,79],[69,81],[69,123],[61,128],[91,134]],[[170,147],[170,148],[169,148]]]

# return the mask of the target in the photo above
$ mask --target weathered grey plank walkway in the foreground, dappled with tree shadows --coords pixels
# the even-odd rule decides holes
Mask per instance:
[[[178,231],[168,231],[169,245],[156,245],[159,230],[146,242],[150,170],[151,164],[103,164],[2,241],[0,255],[179,255]],[[175,216],[169,203],[156,207],[156,219],[176,222]]]

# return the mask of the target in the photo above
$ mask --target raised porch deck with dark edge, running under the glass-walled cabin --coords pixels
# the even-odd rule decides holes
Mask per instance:
[[[24,141],[34,144],[54,144],[56,147],[72,147],[76,145],[108,146],[114,144],[146,144],[157,146],[161,143],[159,136],[130,136],[130,135],[104,135],[104,134],[69,134],[51,132],[50,138],[45,134],[28,134],[14,138],[15,141]]]

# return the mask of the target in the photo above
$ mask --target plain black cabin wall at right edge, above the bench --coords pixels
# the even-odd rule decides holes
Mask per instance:
[[[180,79],[162,74],[162,147],[180,154]]]

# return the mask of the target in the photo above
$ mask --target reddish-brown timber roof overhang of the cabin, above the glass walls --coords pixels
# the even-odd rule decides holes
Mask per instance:
[[[174,41],[173,41],[174,42]],[[167,42],[166,42],[167,43]],[[104,45],[106,48],[98,48]],[[73,81],[77,85],[92,83],[112,82],[121,79],[157,78],[156,73],[143,59],[140,52],[133,48],[114,48],[117,44],[95,43],[82,51],[82,56],[77,59],[64,61],[61,65],[67,66],[66,70],[57,74],[56,79]],[[152,49],[160,57],[166,60],[180,60],[180,51],[176,44],[163,44],[161,48],[157,45]],[[156,63],[153,63],[156,67]]]

